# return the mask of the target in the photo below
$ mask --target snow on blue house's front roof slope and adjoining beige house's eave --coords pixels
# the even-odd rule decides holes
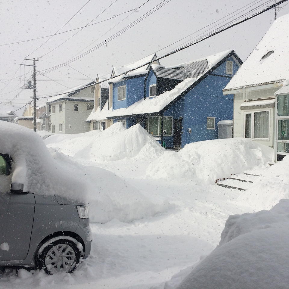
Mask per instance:
[[[154,98],[141,99],[127,108],[108,110],[108,104],[106,104],[101,111],[96,110],[95,112],[92,112],[90,116],[88,117],[87,121],[104,120],[107,117],[127,116],[127,115],[146,114],[146,113],[158,113],[160,112],[160,110],[162,110],[169,103],[171,103],[182,92],[184,92],[191,85],[193,85],[194,82],[196,82],[208,70],[214,67],[219,61],[221,61],[225,56],[227,56],[231,52],[232,50],[227,50],[227,51],[223,51],[223,52],[213,54],[213,55],[196,60],[196,61],[202,61],[206,59],[208,63],[207,69],[203,73],[199,74],[197,77],[188,77],[184,79],[182,82],[177,84],[175,88],[173,88],[170,91],[166,91],[162,93],[161,95],[158,95]],[[196,62],[196,61],[190,61],[188,64],[191,64],[192,62]],[[191,73],[189,75],[191,75]],[[106,106],[107,106],[107,109],[105,109]]]

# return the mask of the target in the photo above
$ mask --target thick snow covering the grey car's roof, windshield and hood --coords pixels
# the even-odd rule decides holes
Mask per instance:
[[[57,195],[86,202],[86,187],[79,170],[51,157],[41,137],[23,126],[0,121],[0,152],[13,158],[12,182],[24,191]]]

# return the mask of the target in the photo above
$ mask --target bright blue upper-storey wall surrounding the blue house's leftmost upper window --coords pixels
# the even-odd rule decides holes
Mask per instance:
[[[113,84],[113,109],[128,107],[144,97],[145,76],[126,79]],[[126,99],[118,100],[118,87],[126,85]]]

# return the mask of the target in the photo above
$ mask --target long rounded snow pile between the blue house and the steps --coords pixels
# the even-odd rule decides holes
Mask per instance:
[[[166,151],[148,166],[147,175],[166,179],[216,179],[264,166],[273,158],[273,149],[245,138],[199,141],[179,151]]]

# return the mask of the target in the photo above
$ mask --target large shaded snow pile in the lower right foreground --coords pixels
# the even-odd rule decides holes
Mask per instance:
[[[175,288],[288,288],[288,211],[281,200],[270,211],[229,216],[219,245]]]

